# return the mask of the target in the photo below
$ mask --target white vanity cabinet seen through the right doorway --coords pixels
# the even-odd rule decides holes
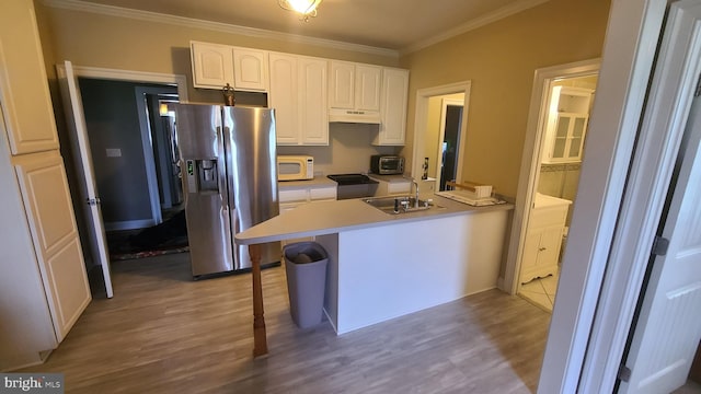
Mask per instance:
[[[555,199],[554,197],[550,200]],[[520,282],[558,273],[570,201],[538,206],[531,210],[521,257]]]

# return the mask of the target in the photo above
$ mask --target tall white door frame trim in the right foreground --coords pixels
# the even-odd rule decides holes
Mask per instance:
[[[539,393],[576,393],[666,0],[612,1]]]

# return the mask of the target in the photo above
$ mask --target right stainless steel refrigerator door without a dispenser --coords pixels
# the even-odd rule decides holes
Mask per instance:
[[[237,234],[279,215],[275,112],[268,108],[223,107],[225,149],[232,232]],[[234,241],[235,269],[251,267],[249,248]],[[280,260],[280,243],[262,247],[261,264]]]

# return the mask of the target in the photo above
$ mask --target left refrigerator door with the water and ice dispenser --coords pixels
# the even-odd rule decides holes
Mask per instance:
[[[193,276],[234,269],[221,107],[176,106]]]

